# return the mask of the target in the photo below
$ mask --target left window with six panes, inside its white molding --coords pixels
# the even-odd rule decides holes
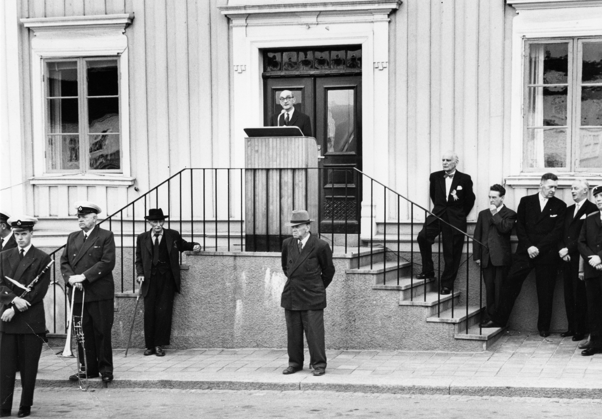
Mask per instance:
[[[118,58],[45,60],[46,170],[121,173]]]

